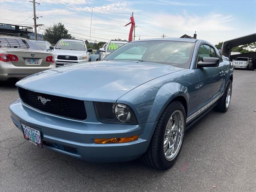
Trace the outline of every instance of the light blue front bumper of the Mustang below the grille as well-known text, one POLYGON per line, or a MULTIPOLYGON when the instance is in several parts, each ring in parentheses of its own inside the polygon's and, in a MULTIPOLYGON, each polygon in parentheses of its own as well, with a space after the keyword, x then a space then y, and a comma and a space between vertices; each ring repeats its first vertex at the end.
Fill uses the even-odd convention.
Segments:
MULTIPOLYGON (((157 122, 127 125, 68 120, 40 113, 21 103, 10 105, 11 118, 22 131, 21 122, 42 132, 44 148, 92 162, 134 160, 144 154, 157 122), (139 134, 139 139, 122 144, 95 144, 94 138, 120 138, 139 134)), ((91 118, 93 119, 93 118, 91 118)))

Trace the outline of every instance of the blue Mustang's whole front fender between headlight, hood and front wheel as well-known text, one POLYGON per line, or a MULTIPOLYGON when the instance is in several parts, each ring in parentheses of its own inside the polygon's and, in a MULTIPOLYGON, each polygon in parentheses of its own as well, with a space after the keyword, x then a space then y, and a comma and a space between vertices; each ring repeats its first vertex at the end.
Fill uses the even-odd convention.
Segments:
POLYGON ((130 106, 137 117, 138 123, 143 124, 158 121, 166 106, 178 96, 184 97, 188 104, 190 97, 185 86, 176 82, 164 84, 162 80, 159 80, 158 83, 150 81, 139 86, 116 102, 130 106), (148 98, 146 102, 145 97, 148 98))

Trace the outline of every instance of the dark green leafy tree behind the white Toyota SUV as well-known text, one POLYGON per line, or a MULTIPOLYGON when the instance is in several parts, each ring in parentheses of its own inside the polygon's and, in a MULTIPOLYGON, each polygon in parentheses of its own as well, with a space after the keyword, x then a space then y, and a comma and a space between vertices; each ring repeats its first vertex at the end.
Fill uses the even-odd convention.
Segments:
POLYGON ((64 27, 64 24, 58 23, 50 26, 44 32, 44 39, 52 44, 56 44, 58 40, 62 38, 70 38, 73 37, 68 33, 68 30, 64 27))

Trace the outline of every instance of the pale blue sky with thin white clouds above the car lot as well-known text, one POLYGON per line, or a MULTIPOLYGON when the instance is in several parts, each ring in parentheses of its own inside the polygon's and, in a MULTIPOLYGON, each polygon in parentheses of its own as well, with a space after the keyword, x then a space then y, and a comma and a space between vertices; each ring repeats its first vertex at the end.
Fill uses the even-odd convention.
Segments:
MULTIPOLYGON (((183 34, 218 44, 256 32, 256 0, 36 0, 37 24, 44 33, 62 22, 69 33, 92 42, 126 39, 130 15, 136 22, 135 40, 180 37, 183 34), (93 7, 93 8, 92 8, 93 7), (92 30, 90 25, 92 13, 92 30)), ((33 4, 29 0, 0 0, 0 22, 32 26, 33 4)))

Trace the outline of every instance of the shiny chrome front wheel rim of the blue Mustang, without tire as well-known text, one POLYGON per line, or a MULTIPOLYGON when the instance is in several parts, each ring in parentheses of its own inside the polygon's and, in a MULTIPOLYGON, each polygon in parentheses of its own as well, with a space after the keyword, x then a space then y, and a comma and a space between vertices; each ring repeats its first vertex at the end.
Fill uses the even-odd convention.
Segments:
POLYGON ((164 156, 166 160, 173 160, 181 147, 184 136, 184 115, 181 110, 176 110, 170 116, 164 133, 164 156))

